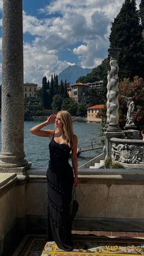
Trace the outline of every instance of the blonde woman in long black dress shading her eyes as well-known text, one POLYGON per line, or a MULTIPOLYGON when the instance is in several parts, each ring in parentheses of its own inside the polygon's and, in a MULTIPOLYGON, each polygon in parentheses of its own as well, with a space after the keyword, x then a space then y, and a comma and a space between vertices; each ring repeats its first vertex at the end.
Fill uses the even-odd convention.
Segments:
POLYGON ((60 249, 72 251, 71 222, 68 220, 68 208, 73 185, 77 186, 78 179, 77 136, 73 134, 71 115, 67 111, 52 114, 46 122, 31 128, 30 132, 51 139, 47 172, 48 239, 49 241, 56 241, 60 249), (51 123, 55 123, 56 130, 41 130, 51 123), (70 151, 73 167, 68 163, 70 151))

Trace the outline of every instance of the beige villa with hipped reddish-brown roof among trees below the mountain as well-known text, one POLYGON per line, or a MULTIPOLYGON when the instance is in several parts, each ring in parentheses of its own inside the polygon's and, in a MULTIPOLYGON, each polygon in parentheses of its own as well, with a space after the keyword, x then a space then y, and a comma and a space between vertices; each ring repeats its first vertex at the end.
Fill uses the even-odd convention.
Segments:
POLYGON ((82 82, 73 84, 73 86, 71 86, 71 97, 74 98, 77 103, 87 100, 88 88, 88 84, 84 84, 82 82))

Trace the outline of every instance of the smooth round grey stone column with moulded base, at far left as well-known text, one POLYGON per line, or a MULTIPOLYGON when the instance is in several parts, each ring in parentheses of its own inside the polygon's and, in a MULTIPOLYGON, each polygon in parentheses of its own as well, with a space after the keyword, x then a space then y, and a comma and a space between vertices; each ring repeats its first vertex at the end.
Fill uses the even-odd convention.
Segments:
POLYGON ((2 150, 0 171, 29 168, 24 159, 22 0, 3 0, 2 150), (21 167, 18 169, 18 167, 21 167), (17 169, 16 169, 17 168, 17 169))

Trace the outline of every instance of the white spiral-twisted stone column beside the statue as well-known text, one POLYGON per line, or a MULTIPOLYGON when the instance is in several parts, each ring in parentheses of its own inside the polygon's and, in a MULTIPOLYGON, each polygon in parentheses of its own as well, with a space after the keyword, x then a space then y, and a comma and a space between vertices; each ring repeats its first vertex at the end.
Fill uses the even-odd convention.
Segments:
POLYGON ((107 122, 105 126, 105 145, 104 145, 104 158, 111 157, 111 143, 112 137, 123 138, 124 133, 118 125, 118 55, 120 48, 108 49, 110 54, 110 71, 107 75, 107 122))

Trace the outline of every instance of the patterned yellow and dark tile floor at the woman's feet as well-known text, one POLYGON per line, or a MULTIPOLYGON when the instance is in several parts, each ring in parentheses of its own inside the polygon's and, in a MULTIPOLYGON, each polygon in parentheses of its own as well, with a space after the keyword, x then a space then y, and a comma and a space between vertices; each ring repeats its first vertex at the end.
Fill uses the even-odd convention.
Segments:
POLYGON ((43 235, 27 235, 13 256, 144 255, 144 233, 73 231, 73 251, 62 251, 43 235))

